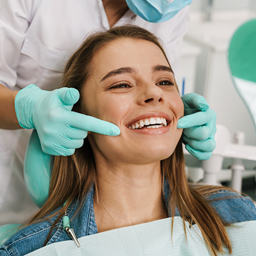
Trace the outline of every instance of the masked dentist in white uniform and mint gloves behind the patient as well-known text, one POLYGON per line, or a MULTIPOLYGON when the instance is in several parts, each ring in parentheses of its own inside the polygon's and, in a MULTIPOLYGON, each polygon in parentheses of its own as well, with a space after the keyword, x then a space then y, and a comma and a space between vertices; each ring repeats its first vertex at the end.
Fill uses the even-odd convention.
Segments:
MULTIPOLYGON (((22 174, 29 129, 37 130, 49 155, 73 154, 88 131, 119 135, 114 124, 71 111, 80 97, 76 89, 57 89, 66 61, 85 37, 114 25, 139 25, 163 39, 177 72, 191 2, 0 0, 0 225, 36 211, 22 174)), ((206 160, 215 148, 216 115, 198 94, 182 99, 185 117, 178 128, 186 149, 206 160)))

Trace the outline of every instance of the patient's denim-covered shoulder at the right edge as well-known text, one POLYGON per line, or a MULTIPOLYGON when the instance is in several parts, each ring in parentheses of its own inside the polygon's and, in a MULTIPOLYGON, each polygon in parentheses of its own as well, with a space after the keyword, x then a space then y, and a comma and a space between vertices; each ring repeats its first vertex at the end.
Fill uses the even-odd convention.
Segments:
POLYGON ((254 201, 232 190, 219 190, 207 196, 222 219, 230 224, 256 220, 254 201))

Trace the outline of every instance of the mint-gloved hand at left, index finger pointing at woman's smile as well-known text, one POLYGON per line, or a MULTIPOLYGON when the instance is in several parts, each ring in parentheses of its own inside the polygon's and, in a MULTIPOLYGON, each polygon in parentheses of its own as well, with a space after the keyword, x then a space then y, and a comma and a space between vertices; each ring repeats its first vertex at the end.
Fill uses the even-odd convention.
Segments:
POLYGON ((16 96, 16 116, 21 127, 37 130, 42 150, 49 155, 72 155, 83 145, 88 131, 120 134, 110 122, 71 111, 79 97, 75 88, 43 91, 30 85, 16 96))

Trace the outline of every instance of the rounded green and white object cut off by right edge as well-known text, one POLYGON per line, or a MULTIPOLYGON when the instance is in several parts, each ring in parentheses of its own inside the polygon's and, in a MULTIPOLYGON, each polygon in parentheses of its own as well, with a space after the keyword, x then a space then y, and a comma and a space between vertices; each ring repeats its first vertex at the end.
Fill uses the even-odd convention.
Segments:
POLYGON ((231 78, 256 129, 256 18, 235 30, 227 51, 231 78))

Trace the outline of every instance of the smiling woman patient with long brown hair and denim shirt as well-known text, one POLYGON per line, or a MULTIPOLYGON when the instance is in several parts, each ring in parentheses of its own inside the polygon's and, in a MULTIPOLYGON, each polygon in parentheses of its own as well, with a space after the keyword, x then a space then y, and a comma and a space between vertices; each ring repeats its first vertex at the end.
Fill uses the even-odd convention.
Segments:
POLYGON ((183 103, 154 35, 134 26, 91 35, 67 63, 62 86, 80 91, 74 111, 121 134, 89 132, 74 155, 55 157, 47 203, 0 255, 70 240, 67 217, 79 238, 180 216, 184 228, 199 226, 212 255, 232 252, 225 227, 256 220, 255 206, 227 188, 188 184, 176 128, 183 103))

